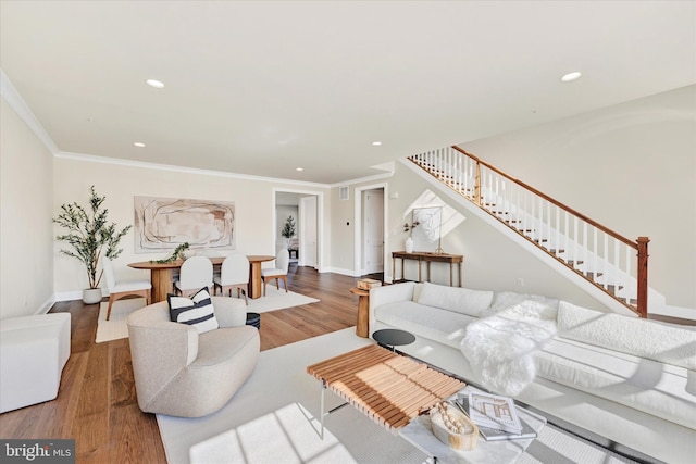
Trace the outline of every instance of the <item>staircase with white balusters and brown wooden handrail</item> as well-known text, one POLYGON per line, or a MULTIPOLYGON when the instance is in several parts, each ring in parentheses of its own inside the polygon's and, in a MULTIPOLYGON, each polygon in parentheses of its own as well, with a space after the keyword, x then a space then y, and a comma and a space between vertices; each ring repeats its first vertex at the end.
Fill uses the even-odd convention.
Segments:
POLYGON ((638 316, 648 292, 663 300, 648 289, 647 237, 622 237, 459 147, 409 160, 638 316))

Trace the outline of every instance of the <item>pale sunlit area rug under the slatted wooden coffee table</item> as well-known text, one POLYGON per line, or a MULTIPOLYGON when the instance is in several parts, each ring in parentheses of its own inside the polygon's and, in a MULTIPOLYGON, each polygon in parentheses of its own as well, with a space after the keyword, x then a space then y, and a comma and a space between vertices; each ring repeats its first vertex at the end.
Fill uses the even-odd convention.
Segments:
MULTIPOLYGON (((307 366, 371 342, 351 327, 261 352, 251 377, 221 411, 192 419, 157 415, 167 462, 433 463, 352 406, 326 416, 324 440, 319 436, 321 387, 307 366)), ((331 392, 325 400, 327 411, 340 404, 331 392)), ((518 462, 633 461, 547 426, 518 462)))

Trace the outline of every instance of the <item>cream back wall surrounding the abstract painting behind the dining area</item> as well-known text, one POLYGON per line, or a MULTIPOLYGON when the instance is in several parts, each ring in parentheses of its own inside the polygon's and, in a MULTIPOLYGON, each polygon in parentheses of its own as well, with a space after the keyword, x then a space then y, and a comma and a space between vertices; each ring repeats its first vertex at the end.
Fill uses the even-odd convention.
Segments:
MULTIPOLYGON (((99 195, 107 197, 109 220, 120 227, 133 224, 134 197, 190 198, 201 200, 234 201, 236 210, 236 251, 248 254, 275 254, 274 188, 290 184, 256 180, 223 173, 186 172, 148 167, 145 165, 113 164, 87 161, 75 156, 59 156, 54 163, 53 211, 62 203, 86 203, 89 186, 95 185, 99 195)), ((319 193, 326 188, 314 188, 319 193)), ((325 212, 327 215, 327 212, 325 212)), ((58 254, 62 243, 55 243, 54 275, 57 298, 74 299, 87 286, 82 264, 58 254)), ((170 252, 135 254, 133 230, 121 242, 123 253, 115 261, 116 278, 149 278, 147 271, 127 266, 130 262, 162 259, 170 252)), ((328 244, 326 244, 328 246, 328 244)), ((101 287, 104 287, 102 283, 101 287)))

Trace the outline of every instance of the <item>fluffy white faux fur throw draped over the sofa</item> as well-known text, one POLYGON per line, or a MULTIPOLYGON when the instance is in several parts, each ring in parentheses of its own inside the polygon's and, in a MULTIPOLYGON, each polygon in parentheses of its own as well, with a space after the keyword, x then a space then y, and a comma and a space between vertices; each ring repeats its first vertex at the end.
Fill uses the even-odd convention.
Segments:
POLYGON ((534 353, 556 335, 557 306, 525 300, 467 326, 461 351, 483 387, 514 397, 534 380, 534 353))

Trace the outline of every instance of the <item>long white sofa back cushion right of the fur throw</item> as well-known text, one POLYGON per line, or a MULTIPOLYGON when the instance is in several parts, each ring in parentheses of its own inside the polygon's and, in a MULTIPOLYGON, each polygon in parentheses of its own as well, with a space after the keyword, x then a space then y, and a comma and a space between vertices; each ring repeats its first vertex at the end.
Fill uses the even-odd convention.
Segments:
POLYGON ((696 371, 696 331, 682 326, 601 313, 561 301, 558 335, 696 371))

